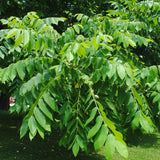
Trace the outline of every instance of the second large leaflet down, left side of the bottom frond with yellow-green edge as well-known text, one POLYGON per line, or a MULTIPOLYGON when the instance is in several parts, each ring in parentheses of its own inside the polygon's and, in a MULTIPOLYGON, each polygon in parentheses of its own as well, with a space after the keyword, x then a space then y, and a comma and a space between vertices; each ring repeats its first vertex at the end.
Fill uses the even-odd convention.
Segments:
POLYGON ((89 130, 87 138, 90 139, 96 135, 102 125, 103 119, 101 116, 96 118, 96 124, 89 130))

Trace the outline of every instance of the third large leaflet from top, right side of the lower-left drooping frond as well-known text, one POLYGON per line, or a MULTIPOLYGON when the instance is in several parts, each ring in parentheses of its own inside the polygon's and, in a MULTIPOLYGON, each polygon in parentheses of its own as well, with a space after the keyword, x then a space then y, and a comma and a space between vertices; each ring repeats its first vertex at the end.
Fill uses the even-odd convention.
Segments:
POLYGON ((34 116, 37 122, 41 125, 41 127, 45 129, 46 128, 46 118, 37 107, 34 109, 34 116))

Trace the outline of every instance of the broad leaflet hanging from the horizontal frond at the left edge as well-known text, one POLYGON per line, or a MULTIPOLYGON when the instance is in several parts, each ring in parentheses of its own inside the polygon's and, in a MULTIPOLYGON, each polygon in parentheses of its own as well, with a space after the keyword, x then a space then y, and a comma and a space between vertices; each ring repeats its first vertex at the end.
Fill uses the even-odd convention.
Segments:
POLYGON ((25 63, 24 63, 24 61, 19 61, 16 64, 16 70, 17 70, 19 78, 21 80, 24 80, 24 77, 25 77, 25 63))

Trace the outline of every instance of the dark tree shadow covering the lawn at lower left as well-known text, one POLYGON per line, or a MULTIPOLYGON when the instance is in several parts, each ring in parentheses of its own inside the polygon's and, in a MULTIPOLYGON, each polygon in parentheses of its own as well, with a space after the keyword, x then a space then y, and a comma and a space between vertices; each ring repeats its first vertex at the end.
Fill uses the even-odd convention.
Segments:
POLYGON ((2 160, 104 160, 98 154, 80 153, 75 158, 72 151, 58 146, 59 134, 19 138, 19 117, 0 113, 0 159, 2 160))

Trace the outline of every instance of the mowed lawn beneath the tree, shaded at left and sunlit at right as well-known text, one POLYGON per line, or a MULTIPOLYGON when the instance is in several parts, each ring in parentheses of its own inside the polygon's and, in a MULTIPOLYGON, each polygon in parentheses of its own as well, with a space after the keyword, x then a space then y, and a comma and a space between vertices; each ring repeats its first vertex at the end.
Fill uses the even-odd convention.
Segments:
MULTIPOLYGON (((20 120, 7 112, 0 112, 0 160, 105 160, 105 149, 98 154, 79 154, 74 158, 65 148, 57 147, 57 134, 42 140, 37 136, 19 139, 20 120)), ((134 138, 135 139, 135 138, 134 138)), ((128 147, 128 160, 160 160, 160 133, 137 138, 136 145, 128 147)), ((116 153, 112 160, 124 160, 116 153)))

